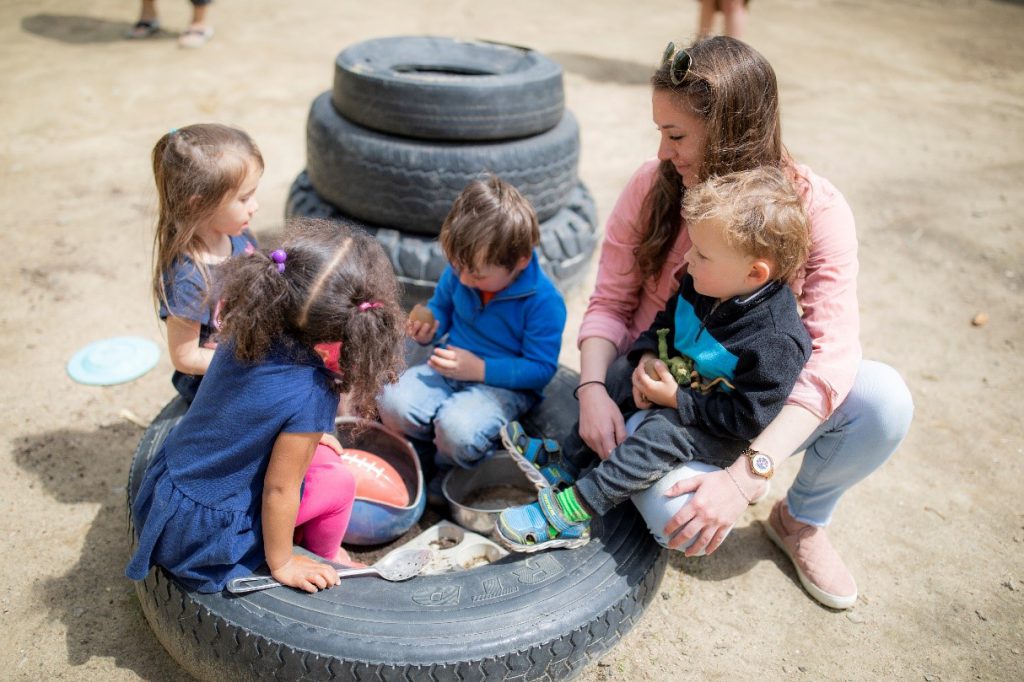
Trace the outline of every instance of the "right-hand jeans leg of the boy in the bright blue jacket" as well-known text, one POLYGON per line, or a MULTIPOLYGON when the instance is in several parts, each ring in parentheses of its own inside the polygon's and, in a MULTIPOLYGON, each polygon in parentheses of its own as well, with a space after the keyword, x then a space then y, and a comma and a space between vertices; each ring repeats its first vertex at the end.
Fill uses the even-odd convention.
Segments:
POLYGON ((518 419, 537 398, 530 391, 456 383, 460 390, 437 411, 434 444, 439 466, 468 469, 494 452, 502 425, 518 419))

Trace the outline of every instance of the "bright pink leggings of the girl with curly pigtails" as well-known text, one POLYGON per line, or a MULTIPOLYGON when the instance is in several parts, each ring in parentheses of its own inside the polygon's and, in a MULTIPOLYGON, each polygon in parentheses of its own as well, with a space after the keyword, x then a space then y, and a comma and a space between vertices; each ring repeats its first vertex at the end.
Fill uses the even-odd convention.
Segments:
POLYGON ((348 528, 355 501, 355 479, 338 454, 317 445, 306 471, 295 542, 313 554, 333 561, 348 528))

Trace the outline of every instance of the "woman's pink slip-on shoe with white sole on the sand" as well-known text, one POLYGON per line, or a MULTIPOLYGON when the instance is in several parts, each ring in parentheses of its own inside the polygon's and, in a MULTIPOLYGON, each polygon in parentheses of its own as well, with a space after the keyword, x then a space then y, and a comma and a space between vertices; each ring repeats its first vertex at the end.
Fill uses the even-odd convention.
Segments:
POLYGON ((857 584, 828 542, 824 528, 793 518, 785 508, 785 500, 775 503, 764 528, 768 538, 793 561, 801 585, 814 599, 838 609, 850 608, 856 603, 857 584))

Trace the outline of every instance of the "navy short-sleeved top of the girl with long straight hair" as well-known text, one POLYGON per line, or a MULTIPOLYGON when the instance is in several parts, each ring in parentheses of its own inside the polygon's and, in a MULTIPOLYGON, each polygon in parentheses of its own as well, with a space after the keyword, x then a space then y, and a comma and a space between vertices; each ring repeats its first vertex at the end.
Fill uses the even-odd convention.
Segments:
MULTIPOLYGON (((241 237, 231 237, 231 255, 233 258, 244 253, 252 253, 256 248, 256 239, 246 230, 241 237)), ((203 284, 196 263, 188 256, 181 256, 174 262, 171 269, 164 272, 164 292, 167 294, 167 304, 160 303, 160 318, 181 317, 199 323, 199 345, 205 344, 217 330, 217 270, 220 265, 209 266, 209 276, 213 284, 212 292, 208 292, 203 284)), ((186 401, 196 399, 202 375, 184 374, 174 371, 171 384, 186 401)))

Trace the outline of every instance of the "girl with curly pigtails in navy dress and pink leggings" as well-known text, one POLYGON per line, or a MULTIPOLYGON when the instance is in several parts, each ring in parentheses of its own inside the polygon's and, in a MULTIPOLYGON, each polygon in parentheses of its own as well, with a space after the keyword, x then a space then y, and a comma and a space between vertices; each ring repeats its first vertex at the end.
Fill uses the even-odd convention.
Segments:
POLYGON ((397 379, 404 316, 372 237, 308 219, 288 235, 281 249, 224 266, 221 343, 132 506, 133 580, 158 564, 189 589, 217 592, 265 562, 307 592, 337 584, 333 567, 292 551, 296 538, 347 562, 340 543, 354 482, 339 458, 313 453, 334 432, 342 392, 370 415, 397 379), (340 343, 340 373, 324 366, 322 343, 340 343))

